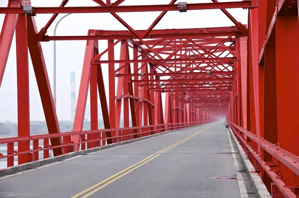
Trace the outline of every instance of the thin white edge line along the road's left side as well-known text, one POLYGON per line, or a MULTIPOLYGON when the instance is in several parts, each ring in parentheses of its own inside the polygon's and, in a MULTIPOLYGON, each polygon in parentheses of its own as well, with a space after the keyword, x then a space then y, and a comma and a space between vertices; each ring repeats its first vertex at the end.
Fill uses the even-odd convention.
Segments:
MULTIPOLYGON (((209 123, 207 123, 207 124, 209 124, 209 123)), ((202 125, 199 125, 198 127, 200 127, 200 126, 202 126, 202 125)), ((195 127, 196 127, 196 126, 195 126, 195 127)), ((195 127, 192 127, 192 128, 195 128, 195 127)), ((185 129, 182 129, 182 130, 186 130, 186 129, 188 129, 188 128, 185 128, 185 129)), ((171 132, 171 133, 175 133, 175 132, 182 131, 182 130, 176 130, 176 131, 173 131, 173 132, 171 132)), ((160 136, 162 136, 162 135, 167 135, 167 134, 171 134, 171 133, 161 134, 161 135, 158 135, 158 136, 151 137, 151 138, 149 138, 149 139, 152 139, 152 138, 155 138, 155 137, 160 137, 160 136)), ((149 140, 149 139, 144 139, 144 140, 149 140)), ((144 141, 144 140, 140 140, 140 141, 132 142, 132 143, 130 143, 130 144, 134 144, 134 143, 137 143, 137 142, 142 142, 142 141, 144 141)), ((119 145, 119 146, 115 146, 115 147, 107 148, 107 149, 104 149, 104 150, 95 151, 95 152, 92 152, 92 153, 87 153, 87 154, 85 154, 85 155, 90 155, 90 154, 93 154, 93 153, 99 153, 99 152, 101 152, 101 151, 107 151, 107 150, 109 150, 109 149, 113 149, 113 148, 117 148, 117 147, 125 146, 125 145, 128 145, 128 144, 123 144, 123 145, 119 145)), ((62 160, 62 161, 59 161, 59 162, 54 162, 54 163, 51 163, 51 164, 47 164, 47 165, 44 165, 44 166, 40 166, 40 167, 37 167, 37 168, 35 168, 35 169, 29 169, 29 170, 26 170, 26 171, 18 172, 18 173, 16 173, 16 174, 3 176, 3 177, 0 177, 0 180, 3 180, 3 179, 5 179, 5 178, 9 178, 9 177, 12 177, 12 176, 15 176, 15 175, 20 175, 20 174, 22 174, 22 173, 26 173, 26 172, 29 172, 29 171, 34 171, 34 170, 36 170, 36 169, 40 169, 40 168, 43 168, 43 167, 47 167, 47 166, 51 166, 51 165, 54 165, 54 164, 58 164, 58 163, 61 163, 61 162, 65 162, 65 161, 68 161, 68 160, 72 160, 72 159, 77 158, 77 157, 80 157, 80 156, 83 156, 83 155, 78 155, 78 156, 75 156, 75 157, 72 157, 72 158, 68 158, 68 159, 65 159, 65 160, 62 160)))

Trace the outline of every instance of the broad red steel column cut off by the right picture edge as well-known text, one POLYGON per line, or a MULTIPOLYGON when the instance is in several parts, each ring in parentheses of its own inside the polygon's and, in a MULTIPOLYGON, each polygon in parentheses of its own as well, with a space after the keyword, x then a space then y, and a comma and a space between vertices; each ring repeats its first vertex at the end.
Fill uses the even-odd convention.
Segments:
MULTIPOLYGON (((277 128, 280 147, 299 156, 299 21, 298 13, 279 13, 276 20, 277 128), (286 67, 287 66, 287 67, 286 67)), ((299 177, 280 164, 282 180, 299 182, 299 177)), ((295 192, 295 191, 294 191, 295 192)), ((296 190, 299 195, 299 189, 296 190)))

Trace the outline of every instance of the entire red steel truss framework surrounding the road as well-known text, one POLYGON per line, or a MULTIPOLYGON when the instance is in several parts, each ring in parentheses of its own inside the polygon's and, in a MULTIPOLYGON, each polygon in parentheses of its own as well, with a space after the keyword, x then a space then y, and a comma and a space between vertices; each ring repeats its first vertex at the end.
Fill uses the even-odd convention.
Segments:
POLYGON ((212 0, 178 3, 179 6, 177 0, 154 6, 122 6, 125 0, 113 4, 110 0, 93 1, 100 6, 65 7, 68 0, 64 0, 58 7, 32 7, 30 0, 8 0, 7 7, 0 7, 0 13, 6 14, 0 35, 0 85, 14 32, 17 46, 18 137, 0 139, 0 144, 7 145, 7 154, 0 154, 0 158, 7 159, 7 167, 13 166, 14 156, 18 156, 18 164, 28 163, 38 160, 39 151, 44 152, 44 158, 49 149, 58 156, 83 150, 86 144, 93 148, 219 120, 226 113, 227 122, 272 197, 299 196, 299 92, 291 86, 296 85, 299 73, 299 1, 212 0), (226 10, 238 7, 249 10, 247 26, 226 10), (221 9, 235 25, 153 30, 167 11, 199 9, 221 9), (137 11, 161 13, 146 30, 133 29, 117 14, 137 11), (92 12, 109 12, 128 30, 89 30, 82 36, 46 35, 58 13, 92 12), (53 13, 40 30, 34 21, 39 13, 53 13), (73 132, 59 130, 40 44, 51 40, 87 40, 73 132), (108 42, 103 52, 99 51, 98 40, 108 42), (117 44, 121 45, 121 54, 119 60, 114 60, 117 44), (28 49, 48 135, 30 136, 28 49), (133 49, 133 55, 129 49, 133 49), (108 60, 101 58, 105 53, 108 60), (102 64, 109 65, 108 91, 102 64), (119 69, 114 69, 115 64, 119 69), (287 82, 290 86, 284 86, 287 82), (89 86, 91 130, 82 131, 89 86), (105 125, 101 130, 98 97, 105 125), (122 106, 124 128, 120 128, 122 106), (43 147, 39 147, 38 140, 44 141, 43 147), (14 151, 16 142, 18 150, 14 151))

